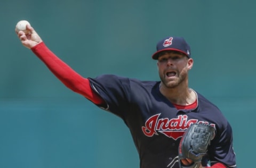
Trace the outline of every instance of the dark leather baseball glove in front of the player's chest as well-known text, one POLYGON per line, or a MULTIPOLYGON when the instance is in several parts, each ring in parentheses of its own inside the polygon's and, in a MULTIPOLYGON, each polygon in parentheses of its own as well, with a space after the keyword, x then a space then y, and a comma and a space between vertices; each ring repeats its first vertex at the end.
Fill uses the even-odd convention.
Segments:
POLYGON ((198 168, 202 157, 206 154, 211 140, 215 136, 215 128, 208 124, 191 124, 184 133, 179 144, 180 168, 198 168), (189 158, 193 161, 190 165, 183 165, 181 159, 189 158))

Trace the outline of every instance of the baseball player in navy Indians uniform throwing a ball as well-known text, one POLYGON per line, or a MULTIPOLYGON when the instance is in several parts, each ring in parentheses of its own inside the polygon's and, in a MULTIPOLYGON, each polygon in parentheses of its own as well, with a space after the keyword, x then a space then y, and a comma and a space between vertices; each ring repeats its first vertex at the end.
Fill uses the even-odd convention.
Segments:
POLYGON ((23 46, 64 85, 125 122, 139 153, 140 168, 197 167, 192 158, 179 159, 178 153, 183 134, 195 123, 215 129, 198 167, 236 167, 230 124, 217 106, 188 87, 193 58, 182 37, 166 37, 157 43, 152 58, 161 80, 140 81, 112 74, 84 78, 51 52, 33 27, 26 29, 27 35, 17 32, 23 46))

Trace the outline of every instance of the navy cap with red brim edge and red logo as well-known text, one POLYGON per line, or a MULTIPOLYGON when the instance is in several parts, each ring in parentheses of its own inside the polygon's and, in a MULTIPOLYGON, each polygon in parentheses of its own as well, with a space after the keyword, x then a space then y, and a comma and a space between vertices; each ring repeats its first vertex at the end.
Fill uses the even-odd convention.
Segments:
POLYGON ((152 58, 157 60, 159 53, 162 51, 178 51, 190 58, 190 47, 183 37, 166 37, 159 41, 152 58))

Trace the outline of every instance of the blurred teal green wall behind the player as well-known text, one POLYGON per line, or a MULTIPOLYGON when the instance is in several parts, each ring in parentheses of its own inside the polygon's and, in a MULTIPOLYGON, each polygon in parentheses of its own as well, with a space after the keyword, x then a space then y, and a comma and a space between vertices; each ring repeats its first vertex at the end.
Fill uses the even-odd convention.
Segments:
POLYGON ((28 20, 84 77, 158 80, 158 40, 191 46, 191 88, 219 106, 238 167, 254 159, 255 1, 3 0, 0 5, 0 167, 139 167, 129 130, 54 77, 14 32, 28 20), (254 131, 253 131, 254 130, 254 131))

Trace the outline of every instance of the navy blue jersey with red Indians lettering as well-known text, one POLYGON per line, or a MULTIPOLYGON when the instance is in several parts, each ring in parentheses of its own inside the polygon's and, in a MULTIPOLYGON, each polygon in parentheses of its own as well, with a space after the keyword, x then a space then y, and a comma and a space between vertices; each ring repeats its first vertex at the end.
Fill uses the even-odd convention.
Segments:
POLYGON ((130 129, 138 150, 141 168, 179 168, 178 145, 191 123, 207 123, 216 128, 206 164, 221 162, 236 167, 230 124, 219 108, 197 93, 193 110, 177 110, 159 91, 159 81, 140 81, 101 75, 89 78, 91 87, 106 101, 101 107, 121 117, 130 129))

